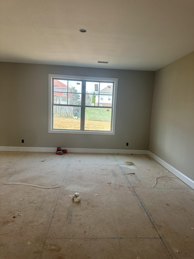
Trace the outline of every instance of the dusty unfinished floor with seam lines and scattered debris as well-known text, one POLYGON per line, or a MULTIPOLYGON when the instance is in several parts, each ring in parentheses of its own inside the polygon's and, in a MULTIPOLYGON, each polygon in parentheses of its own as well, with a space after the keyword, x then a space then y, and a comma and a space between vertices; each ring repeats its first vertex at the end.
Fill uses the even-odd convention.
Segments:
POLYGON ((193 259, 194 192, 153 188, 166 171, 148 155, 0 152, 0 258, 193 259))

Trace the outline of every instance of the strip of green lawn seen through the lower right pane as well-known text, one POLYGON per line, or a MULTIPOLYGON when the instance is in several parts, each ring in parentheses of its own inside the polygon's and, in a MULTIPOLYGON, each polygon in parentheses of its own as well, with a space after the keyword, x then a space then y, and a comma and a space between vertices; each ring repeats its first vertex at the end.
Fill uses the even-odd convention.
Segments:
POLYGON ((89 121, 111 121, 111 108, 85 108, 85 120, 89 121))

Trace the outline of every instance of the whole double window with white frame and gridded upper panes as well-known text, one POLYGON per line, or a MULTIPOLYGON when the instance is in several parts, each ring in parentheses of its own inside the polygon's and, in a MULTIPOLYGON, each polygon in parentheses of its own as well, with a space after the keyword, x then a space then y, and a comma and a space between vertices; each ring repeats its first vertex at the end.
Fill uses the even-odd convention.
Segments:
POLYGON ((114 135, 117 82, 49 74, 49 133, 114 135))

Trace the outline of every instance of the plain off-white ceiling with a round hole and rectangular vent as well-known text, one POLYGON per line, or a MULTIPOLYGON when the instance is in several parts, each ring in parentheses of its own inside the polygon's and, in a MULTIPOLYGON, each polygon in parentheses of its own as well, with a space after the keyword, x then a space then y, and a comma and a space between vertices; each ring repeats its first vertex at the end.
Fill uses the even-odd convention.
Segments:
POLYGON ((1 0, 0 61, 155 71, 193 51, 194 0, 1 0))

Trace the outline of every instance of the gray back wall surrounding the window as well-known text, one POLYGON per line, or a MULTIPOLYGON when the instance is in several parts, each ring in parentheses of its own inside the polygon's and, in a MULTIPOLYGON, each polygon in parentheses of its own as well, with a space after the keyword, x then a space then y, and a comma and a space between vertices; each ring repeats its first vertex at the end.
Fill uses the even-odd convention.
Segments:
POLYGON ((148 150, 154 72, 2 62, 0 78, 0 146, 148 150), (115 135, 48 133, 49 73, 118 78, 115 135))

